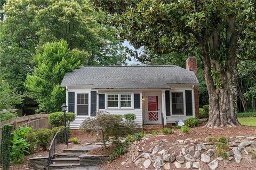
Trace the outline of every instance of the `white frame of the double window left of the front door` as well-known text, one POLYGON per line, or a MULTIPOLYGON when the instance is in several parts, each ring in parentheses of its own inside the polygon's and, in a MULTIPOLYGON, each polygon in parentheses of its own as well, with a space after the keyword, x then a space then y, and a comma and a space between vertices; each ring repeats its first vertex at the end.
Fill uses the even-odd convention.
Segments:
POLYGON ((127 93, 127 92, 113 92, 113 93, 105 93, 105 110, 111 110, 111 109, 134 109, 134 106, 133 106, 133 102, 134 102, 134 99, 133 99, 133 94, 134 93, 127 93), (108 95, 111 95, 111 94, 117 94, 118 95, 118 107, 108 107, 108 95), (121 94, 130 94, 131 95, 131 107, 121 107, 121 94))

